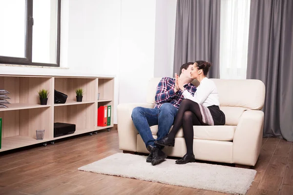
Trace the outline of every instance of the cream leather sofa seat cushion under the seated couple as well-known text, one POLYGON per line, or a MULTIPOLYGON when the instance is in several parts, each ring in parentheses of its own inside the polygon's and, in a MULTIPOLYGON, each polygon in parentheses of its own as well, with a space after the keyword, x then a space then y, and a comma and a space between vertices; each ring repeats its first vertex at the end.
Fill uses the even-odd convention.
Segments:
MULTIPOLYGON (((171 127, 172 129, 172 127, 171 127)), ((194 139, 208 139, 218 141, 231 141, 233 140, 236 126, 223 125, 223 126, 193 126, 194 139)), ((157 135, 158 125, 150 127, 153 136, 157 135)), ((176 137, 183 137, 182 128, 179 129, 176 137)))

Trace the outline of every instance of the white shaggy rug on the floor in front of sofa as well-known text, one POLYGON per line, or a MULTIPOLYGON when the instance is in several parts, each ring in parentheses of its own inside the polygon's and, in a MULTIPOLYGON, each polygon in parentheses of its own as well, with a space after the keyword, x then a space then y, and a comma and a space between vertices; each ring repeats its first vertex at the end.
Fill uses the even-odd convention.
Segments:
POLYGON ((206 163, 175 164, 166 159, 152 166, 146 156, 117 153, 78 170, 123 176, 176 186, 245 195, 256 174, 255 170, 206 163))

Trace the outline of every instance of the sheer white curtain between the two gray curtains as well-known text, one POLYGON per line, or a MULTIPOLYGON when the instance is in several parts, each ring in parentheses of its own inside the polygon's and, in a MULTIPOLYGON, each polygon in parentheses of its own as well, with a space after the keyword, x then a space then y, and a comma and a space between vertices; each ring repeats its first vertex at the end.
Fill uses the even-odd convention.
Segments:
POLYGON ((246 79, 251 0, 221 0, 220 78, 246 79))

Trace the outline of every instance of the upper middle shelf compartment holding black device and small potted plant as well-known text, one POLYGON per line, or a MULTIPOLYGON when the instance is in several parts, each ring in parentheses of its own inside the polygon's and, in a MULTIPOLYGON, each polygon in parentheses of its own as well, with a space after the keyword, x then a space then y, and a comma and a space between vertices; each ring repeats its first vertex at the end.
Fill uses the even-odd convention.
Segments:
POLYGON ((77 88, 84 89, 83 101, 95 101, 96 97, 96 81, 97 78, 70 78, 62 77, 55 78, 54 89, 66 94, 67 101, 72 100, 76 102, 75 90, 77 88))

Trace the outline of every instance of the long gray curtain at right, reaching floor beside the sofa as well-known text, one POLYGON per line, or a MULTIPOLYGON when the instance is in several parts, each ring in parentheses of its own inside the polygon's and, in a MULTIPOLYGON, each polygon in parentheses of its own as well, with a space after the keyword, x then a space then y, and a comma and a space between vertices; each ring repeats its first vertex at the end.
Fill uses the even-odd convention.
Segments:
POLYGON ((247 78, 266 85, 264 137, 293 141, 293 0, 251 0, 247 78))

